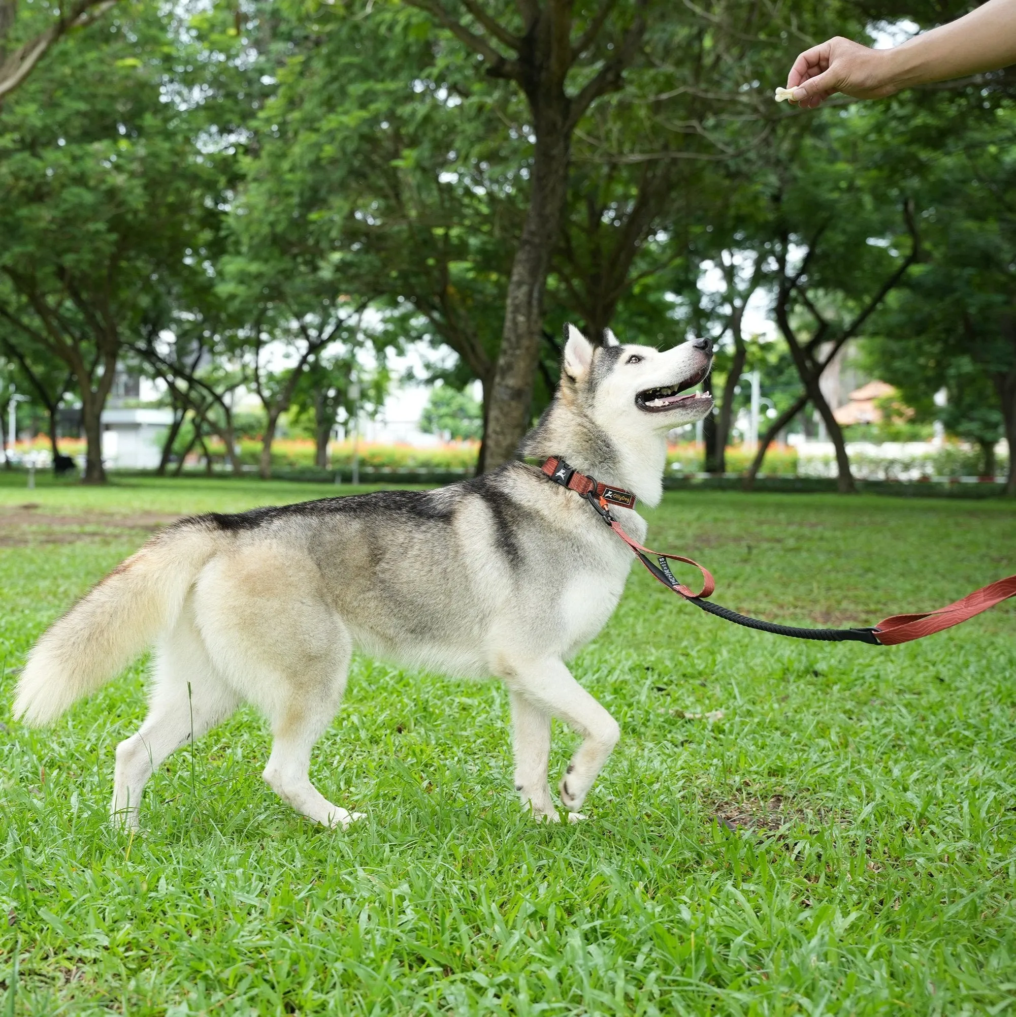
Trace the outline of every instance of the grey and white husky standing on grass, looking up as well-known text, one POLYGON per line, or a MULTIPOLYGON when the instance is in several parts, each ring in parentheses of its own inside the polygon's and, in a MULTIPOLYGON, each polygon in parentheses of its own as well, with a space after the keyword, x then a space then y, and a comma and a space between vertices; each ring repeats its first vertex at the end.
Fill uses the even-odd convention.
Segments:
MULTIPOLYGON (((523 452, 562 457, 656 504, 666 432, 712 405, 689 391, 709 371, 711 344, 660 353, 609 332, 601 346, 571 325, 566 336, 560 386, 523 452)), ((642 518, 614 511, 642 541, 642 518)), ((362 814, 328 801, 308 768, 359 650, 501 678, 515 788, 537 820, 558 819, 551 718, 569 724, 583 740, 559 789, 569 819, 581 818, 620 728, 565 660, 610 618, 631 561, 588 501, 522 462, 438 490, 196 516, 154 536, 54 622, 21 672, 14 714, 55 720, 154 643, 148 715, 117 746, 115 822, 136 827, 154 769, 246 702, 271 725, 265 781, 304 816, 344 827, 362 814)))

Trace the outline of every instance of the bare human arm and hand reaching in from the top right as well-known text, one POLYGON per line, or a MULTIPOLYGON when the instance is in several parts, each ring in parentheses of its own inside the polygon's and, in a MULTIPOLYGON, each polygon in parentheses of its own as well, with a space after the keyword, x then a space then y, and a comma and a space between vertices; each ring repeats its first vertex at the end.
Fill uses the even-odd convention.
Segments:
POLYGON ((854 99, 883 99, 914 84, 1012 63, 1016 0, 988 0, 969 14, 889 50, 873 50, 838 36, 829 39, 798 57, 786 86, 793 89, 793 102, 815 109, 837 92, 854 99))

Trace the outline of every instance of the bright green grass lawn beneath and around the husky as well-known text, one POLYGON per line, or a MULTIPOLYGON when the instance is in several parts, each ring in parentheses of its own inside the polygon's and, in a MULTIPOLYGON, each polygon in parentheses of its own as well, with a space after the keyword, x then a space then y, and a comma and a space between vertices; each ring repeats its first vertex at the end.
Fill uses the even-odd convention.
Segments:
MULTIPOLYGON (((106 810, 141 664, 42 731, 10 720, 12 670, 160 521, 333 490, 14 483, 0 475, 2 1013, 1016 1003, 1016 605, 904 647, 809 644, 636 566, 574 662, 623 730, 586 823, 520 815, 498 684, 361 658, 311 776, 365 822, 324 830, 279 801, 247 711, 167 762, 131 839, 106 810)), ((1016 572, 999 501, 682 493, 650 524, 652 546, 713 571, 717 602, 780 621, 874 623, 1016 572)), ((553 773, 574 742, 556 729, 553 773)))

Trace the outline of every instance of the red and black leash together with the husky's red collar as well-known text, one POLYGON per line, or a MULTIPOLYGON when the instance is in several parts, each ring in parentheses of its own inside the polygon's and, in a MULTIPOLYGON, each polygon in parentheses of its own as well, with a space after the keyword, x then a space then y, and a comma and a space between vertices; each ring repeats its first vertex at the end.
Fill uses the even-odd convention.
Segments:
POLYGON ((548 459, 542 469, 544 474, 556 484, 567 487, 585 498, 596 510, 604 522, 632 549, 653 579, 680 594, 689 603, 701 607, 703 611, 708 611, 726 621, 733 621, 735 624, 745 625, 748 629, 774 633, 777 636, 789 636, 791 639, 896 646, 898 643, 909 643, 911 640, 940 633, 944 629, 951 629, 961 621, 972 618, 975 614, 980 614, 981 611, 987 611, 1003 600, 1016 596, 1016 576, 1010 576, 1007 579, 990 583, 979 590, 974 590, 973 593, 967 594, 961 600, 946 607, 940 607, 937 611, 926 611, 923 614, 893 614, 871 629, 799 629, 793 625, 778 625, 771 621, 762 621, 759 618, 751 618, 747 614, 739 614, 728 607, 721 607, 719 604, 707 600, 706 598, 716 589, 716 583, 709 571, 703 569, 697 561, 680 554, 666 554, 662 551, 651 550, 629 537, 611 513, 611 505, 634 508, 635 495, 631 491, 626 491, 622 487, 613 487, 610 484, 597 483, 594 478, 587 477, 572 469, 557 456, 548 459), (652 561, 649 555, 655 556, 656 561, 652 561), (683 583, 679 583, 671 572, 669 560, 683 561, 698 569, 702 574, 702 590, 699 593, 693 593, 683 583))

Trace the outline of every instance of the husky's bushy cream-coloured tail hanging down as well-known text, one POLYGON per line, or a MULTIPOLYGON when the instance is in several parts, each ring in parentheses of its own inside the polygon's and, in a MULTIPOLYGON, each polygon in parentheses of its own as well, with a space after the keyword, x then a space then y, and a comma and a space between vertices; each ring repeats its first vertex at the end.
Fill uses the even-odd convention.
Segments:
POLYGON ((202 521, 153 537, 55 621, 33 647, 14 696, 31 726, 56 720, 176 622, 187 592, 218 549, 202 521))

